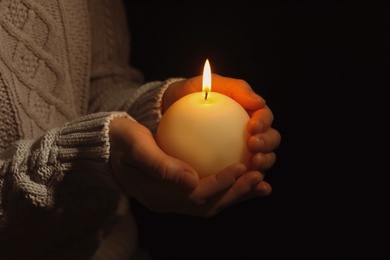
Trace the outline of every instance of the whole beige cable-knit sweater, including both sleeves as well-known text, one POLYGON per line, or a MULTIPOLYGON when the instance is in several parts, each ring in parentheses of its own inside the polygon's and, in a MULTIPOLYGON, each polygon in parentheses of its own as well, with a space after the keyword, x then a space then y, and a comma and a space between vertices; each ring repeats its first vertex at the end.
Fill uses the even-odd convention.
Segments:
POLYGON ((128 64, 129 40, 120 0, 0 1, 0 259, 14 251, 44 259, 37 247, 62 259, 58 252, 96 239, 46 241, 61 228, 48 224, 53 215, 72 224, 69 209, 122 216, 119 229, 133 232, 119 235, 128 241, 122 256, 132 253, 135 226, 110 178, 108 125, 132 117, 153 132, 169 83, 143 83, 128 64))

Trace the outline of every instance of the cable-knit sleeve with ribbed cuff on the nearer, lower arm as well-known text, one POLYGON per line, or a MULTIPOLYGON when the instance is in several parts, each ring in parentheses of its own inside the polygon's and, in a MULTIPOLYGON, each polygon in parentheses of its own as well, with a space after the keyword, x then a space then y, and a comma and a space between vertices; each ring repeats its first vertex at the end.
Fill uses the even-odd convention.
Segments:
POLYGON ((4 151, 0 157, 0 227, 70 203, 75 194, 58 189, 70 172, 95 169, 96 175, 106 175, 110 182, 108 126, 115 117, 129 116, 124 112, 91 114, 38 139, 20 140, 4 151))

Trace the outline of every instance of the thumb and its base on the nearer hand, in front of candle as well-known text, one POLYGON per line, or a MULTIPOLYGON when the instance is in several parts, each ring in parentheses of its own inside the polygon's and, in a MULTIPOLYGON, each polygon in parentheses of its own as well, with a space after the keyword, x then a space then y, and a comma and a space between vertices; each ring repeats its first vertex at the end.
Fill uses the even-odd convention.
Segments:
POLYGON ((125 166, 133 172, 140 171, 138 178, 176 183, 185 188, 198 185, 196 171, 185 162, 164 153, 149 129, 135 121, 125 118, 113 120, 110 123, 110 144, 111 163, 122 175, 128 170, 122 168, 125 166))

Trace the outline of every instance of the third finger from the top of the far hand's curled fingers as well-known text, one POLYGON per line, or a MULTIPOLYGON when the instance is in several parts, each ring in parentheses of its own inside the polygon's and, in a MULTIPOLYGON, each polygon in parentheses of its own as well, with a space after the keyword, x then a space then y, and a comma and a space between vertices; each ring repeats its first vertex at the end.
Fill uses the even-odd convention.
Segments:
POLYGON ((247 141, 248 150, 251 153, 269 153, 279 147, 281 136, 274 128, 268 129, 266 133, 250 136, 247 141))

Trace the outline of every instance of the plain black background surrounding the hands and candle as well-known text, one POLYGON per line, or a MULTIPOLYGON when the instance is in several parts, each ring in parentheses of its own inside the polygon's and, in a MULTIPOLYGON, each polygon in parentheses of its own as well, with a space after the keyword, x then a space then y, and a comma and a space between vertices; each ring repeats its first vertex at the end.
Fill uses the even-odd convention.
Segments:
POLYGON ((239 3, 128 3, 147 80, 200 75, 208 58, 267 100, 282 135, 270 197, 211 219, 134 204, 141 246, 156 260, 390 259, 389 5, 239 3))

